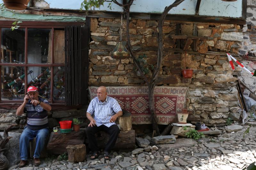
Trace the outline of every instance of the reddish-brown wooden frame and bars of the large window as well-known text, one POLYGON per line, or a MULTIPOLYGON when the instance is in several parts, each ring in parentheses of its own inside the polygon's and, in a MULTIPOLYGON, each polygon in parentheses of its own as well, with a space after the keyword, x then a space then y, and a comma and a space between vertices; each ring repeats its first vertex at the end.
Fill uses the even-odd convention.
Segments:
MULTIPOLYGON (((13 21, 0 21, 0 43, 1 39, 2 39, 2 28, 11 28, 13 21)), ((44 22, 44 21, 23 21, 22 23, 19 24, 20 28, 25 28, 25 63, 24 64, 18 64, 18 63, 1 63, 0 61, 0 75, 2 74, 2 66, 23 66, 25 67, 25 73, 28 72, 28 67, 33 67, 33 66, 47 66, 47 67, 51 67, 51 77, 53 78, 53 68, 54 67, 58 67, 58 66, 62 66, 65 67, 65 63, 54 63, 54 29, 55 28, 65 28, 65 26, 74 26, 74 25, 83 25, 84 22, 44 22), (51 63, 37 63, 37 64, 32 64, 32 63, 28 63, 28 29, 29 28, 43 28, 43 29, 52 29, 52 51, 51 51, 51 63)), ((0 58, 2 57, 2 53, 0 53, 0 58)), ((27 88, 28 88, 28 75, 25 74, 25 94, 27 92, 27 88)), ((1 82, 1 76, 0 76, 0 82, 1 82)), ((53 81, 51 79, 51 95, 50 95, 50 100, 49 103, 52 106, 55 106, 53 109, 58 109, 58 108, 62 108, 62 109, 68 109, 68 108, 79 108, 81 106, 68 106, 65 107, 65 101, 58 101, 58 100, 53 100, 53 81)), ((0 96, 1 96, 1 91, 0 90, 0 96)), ((17 107, 20 106, 20 103, 22 103, 23 100, 2 100, 0 97, 0 107, 4 107, 4 108, 12 108, 15 109, 17 107)))

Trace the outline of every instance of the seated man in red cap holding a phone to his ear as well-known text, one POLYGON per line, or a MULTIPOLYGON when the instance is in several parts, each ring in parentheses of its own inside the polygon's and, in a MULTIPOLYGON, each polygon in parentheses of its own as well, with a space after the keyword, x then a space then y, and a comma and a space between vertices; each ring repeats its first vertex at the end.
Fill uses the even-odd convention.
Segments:
POLYGON ((20 136, 19 167, 27 165, 29 141, 34 137, 36 137, 34 165, 40 165, 40 154, 44 148, 45 139, 49 134, 47 111, 52 109, 47 100, 38 96, 38 90, 35 86, 29 86, 27 93, 16 112, 16 115, 22 115, 24 112, 28 116, 27 125, 20 136))

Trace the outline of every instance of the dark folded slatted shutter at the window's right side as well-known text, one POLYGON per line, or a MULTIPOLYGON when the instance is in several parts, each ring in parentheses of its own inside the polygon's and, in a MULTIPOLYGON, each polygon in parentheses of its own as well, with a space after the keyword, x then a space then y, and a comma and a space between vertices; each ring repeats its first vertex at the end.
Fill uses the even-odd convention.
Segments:
POLYGON ((90 18, 85 26, 65 27, 65 104, 84 105, 88 88, 90 18))

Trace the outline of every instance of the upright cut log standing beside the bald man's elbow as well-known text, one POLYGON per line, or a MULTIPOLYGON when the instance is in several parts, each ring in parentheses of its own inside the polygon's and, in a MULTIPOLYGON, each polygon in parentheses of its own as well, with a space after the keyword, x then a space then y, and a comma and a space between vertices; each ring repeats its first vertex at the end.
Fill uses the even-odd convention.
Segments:
POLYGON ((132 130, 132 115, 130 112, 123 110, 123 115, 118 118, 118 121, 121 131, 132 130))

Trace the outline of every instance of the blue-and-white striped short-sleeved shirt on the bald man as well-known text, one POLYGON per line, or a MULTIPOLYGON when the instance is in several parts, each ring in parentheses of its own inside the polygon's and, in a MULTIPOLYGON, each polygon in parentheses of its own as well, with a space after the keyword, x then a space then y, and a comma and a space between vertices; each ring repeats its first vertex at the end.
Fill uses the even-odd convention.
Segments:
POLYGON ((98 97, 95 97, 87 109, 87 113, 94 114, 94 120, 97 126, 104 124, 107 127, 116 124, 115 122, 109 121, 119 111, 122 111, 122 109, 116 99, 108 96, 104 102, 101 102, 98 97))

